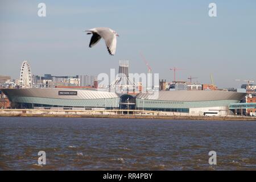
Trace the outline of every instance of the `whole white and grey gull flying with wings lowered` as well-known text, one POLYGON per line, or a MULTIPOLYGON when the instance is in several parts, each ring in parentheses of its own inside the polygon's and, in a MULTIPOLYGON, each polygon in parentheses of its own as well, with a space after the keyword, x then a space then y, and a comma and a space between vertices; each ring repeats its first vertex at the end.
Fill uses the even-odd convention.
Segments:
POLYGON ((119 36, 117 32, 107 27, 92 28, 90 30, 85 30, 85 32, 89 32, 87 34, 93 34, 92 38, 90 39, 89 47, 93 47, 100 41, 101 38, 103 38, 110 55, 113 56, 115 54, 115 49, 117 47, 117 36, 119 36))

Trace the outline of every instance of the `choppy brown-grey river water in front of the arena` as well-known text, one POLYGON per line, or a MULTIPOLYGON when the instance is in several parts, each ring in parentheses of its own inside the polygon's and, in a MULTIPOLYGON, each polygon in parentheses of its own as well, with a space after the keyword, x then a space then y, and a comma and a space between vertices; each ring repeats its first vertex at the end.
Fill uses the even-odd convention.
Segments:
POLYGON ((0 117, 0 169, 256 170, 256 122, 0 117))

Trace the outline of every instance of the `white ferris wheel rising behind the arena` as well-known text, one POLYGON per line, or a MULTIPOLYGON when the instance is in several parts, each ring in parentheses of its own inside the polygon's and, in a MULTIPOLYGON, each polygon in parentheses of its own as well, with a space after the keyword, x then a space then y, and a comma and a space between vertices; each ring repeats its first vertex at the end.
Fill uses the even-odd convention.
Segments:
POLYGON ((19 77, 20 88, 31 88, 32 87, 32 76, 30 64, 28 61, 23 61, 22 67, 20 68, 19 77))

